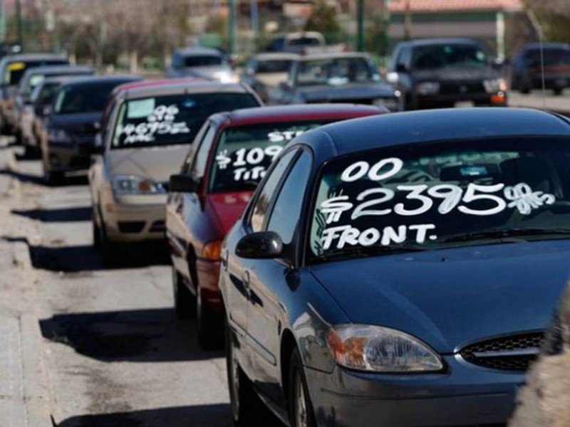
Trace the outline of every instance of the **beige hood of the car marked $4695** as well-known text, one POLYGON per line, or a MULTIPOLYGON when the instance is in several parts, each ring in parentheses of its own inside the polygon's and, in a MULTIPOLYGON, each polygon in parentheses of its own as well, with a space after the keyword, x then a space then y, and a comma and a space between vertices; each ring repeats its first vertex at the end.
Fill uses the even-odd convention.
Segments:
POLYGON ((105 160, 113 175, 136 175, 154 182, 165 183, 177 173, 189 146, 112 149, 105 153, 105 160))

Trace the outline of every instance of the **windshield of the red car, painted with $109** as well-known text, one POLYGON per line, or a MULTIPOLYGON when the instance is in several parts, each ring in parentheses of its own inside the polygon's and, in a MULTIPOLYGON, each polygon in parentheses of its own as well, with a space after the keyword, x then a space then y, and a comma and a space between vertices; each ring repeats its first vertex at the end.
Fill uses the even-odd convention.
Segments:
POLYGON ((209 173, 209 192, 251 191, 284 145, 330 120, 229 127, 220 135, 209 173))

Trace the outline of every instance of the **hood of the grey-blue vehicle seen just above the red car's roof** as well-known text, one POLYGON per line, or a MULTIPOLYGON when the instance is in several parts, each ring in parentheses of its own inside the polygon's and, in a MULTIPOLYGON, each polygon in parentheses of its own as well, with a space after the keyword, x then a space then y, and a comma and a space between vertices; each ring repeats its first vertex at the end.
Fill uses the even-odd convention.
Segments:
POLYGON ((297 90, 306 102, 335 102, 346 100, 373 100, 378 97, 395 97, 390 85, 371 83, 369 85, 311 86, 297 90))

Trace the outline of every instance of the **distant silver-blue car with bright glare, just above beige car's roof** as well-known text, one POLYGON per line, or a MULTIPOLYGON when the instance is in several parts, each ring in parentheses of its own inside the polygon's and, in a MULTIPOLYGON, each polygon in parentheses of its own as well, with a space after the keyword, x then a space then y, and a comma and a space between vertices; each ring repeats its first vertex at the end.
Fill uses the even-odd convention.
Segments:
POLYGON ((167 78, 194 77, 221 83, 239 83, 239 75, 224 53, 212 48, 180 48, 172 53, 167 78))

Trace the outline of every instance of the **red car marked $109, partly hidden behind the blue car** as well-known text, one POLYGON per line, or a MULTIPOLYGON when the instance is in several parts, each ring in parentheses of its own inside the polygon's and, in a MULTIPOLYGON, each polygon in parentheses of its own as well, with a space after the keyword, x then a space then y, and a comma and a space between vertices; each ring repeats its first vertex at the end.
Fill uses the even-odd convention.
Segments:
POLYGON ((218 347, 223 339, 222 240, 274 157, 307 130, 387 111, 370 105, 288 105, 223 112, 204 123, 180 174, 170 176, 166 207, 176 312, 196 315, 202 347, 218 347))

